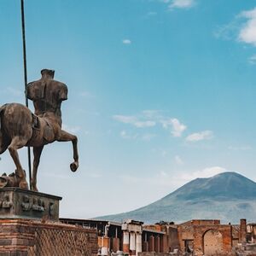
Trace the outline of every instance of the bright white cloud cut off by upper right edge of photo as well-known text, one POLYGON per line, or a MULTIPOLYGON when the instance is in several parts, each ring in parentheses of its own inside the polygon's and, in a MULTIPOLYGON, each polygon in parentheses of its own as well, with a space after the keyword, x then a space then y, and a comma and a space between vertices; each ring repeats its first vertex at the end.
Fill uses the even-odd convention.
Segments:
POLYGON ((256 46, 256 8, 241 12, 240 16, 247 21, 241 27, 238 40, 256 46))

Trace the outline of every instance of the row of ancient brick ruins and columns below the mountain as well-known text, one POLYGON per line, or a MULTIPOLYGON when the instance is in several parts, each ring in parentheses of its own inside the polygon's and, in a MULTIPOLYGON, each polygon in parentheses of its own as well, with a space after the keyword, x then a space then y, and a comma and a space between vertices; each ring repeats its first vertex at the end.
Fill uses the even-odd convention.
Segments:
POLYGON ((193 219, 182 224, 161 221, 61 218, 65 224, 97 230, 98 255, 256 255, 256 224, 220 224, 218 219, 193 219))

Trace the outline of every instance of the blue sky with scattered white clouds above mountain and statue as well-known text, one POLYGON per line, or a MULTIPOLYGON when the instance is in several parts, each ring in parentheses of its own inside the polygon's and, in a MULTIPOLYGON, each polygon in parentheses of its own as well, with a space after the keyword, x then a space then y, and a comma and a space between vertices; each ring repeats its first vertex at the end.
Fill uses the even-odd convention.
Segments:
MULTIPOLYGON (((256 180, 256 1, 25 0, 28 80, 55 69, 79 137, 44 148, 61 216, 142 207, 195 177, 256 180)), ((24 102, 20 1, 0 2, 0 103, 24 102)), ((30 105, 32 109, 32 104, 30 105)), ((13 172, 9 153, 0 170, 13 172)), ((26 167, 26 150, 20 150, 26 167)))

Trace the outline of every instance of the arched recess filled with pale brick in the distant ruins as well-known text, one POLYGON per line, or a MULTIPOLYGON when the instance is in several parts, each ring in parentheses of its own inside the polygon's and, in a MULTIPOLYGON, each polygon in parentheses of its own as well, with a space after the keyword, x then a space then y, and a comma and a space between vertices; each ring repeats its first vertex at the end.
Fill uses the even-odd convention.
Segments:
POLYGON ((203 236, 204 255, 223 253, 223 237, 218 230, 207 230, 203 236))

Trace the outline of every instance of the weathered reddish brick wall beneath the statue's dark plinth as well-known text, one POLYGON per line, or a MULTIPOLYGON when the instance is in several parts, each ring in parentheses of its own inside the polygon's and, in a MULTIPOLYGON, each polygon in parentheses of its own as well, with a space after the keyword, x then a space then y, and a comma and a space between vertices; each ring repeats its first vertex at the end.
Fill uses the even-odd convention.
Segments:
POLYGON ((96 230, 26 219, 0 220, 0 255, 91 255, 97 253, 96 230), (75 254, 77 253, 77 254, 75 254))

